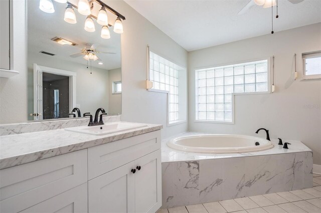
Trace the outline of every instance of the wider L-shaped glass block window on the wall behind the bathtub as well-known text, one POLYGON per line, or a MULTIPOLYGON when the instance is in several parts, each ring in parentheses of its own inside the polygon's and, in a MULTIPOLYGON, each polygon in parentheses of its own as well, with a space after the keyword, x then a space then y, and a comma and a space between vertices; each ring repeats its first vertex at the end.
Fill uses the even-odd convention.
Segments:
POLYGON ((268 91, 267 60, 196 70, 196 119, 233 120, 232 93, 268 91))

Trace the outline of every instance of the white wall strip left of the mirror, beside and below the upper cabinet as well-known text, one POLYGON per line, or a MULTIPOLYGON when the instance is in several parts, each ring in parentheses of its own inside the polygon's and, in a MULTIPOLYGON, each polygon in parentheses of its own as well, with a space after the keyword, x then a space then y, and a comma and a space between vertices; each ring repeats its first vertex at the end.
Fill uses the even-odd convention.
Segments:
POLYGON ((0 77, 0 123, 27 120, 27 21, 25 0, 13 1, 13 69, 11 78, 0 77))

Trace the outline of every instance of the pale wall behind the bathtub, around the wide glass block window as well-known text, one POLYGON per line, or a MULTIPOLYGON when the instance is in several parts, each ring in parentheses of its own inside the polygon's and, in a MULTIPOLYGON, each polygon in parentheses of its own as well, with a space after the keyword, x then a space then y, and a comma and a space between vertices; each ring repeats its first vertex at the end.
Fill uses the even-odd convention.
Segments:
MULTIPOLYGON (((256 129, 265 127, 272 138, 301 140, 313 150, 313 163, 321 164, 321 80, 300 80, 301 54, 320 50, 320 37, 321 24, 316 23, 189 52, 189 130, 255 135, 256 129), (299 78, 294 81, 295 52, 299 78), (235 124, 194 121, 195 68, 272 55, 275 55, 274 93, 235 95, 235 124)), ((264 132, 259 135, 263 137, 264 132)))

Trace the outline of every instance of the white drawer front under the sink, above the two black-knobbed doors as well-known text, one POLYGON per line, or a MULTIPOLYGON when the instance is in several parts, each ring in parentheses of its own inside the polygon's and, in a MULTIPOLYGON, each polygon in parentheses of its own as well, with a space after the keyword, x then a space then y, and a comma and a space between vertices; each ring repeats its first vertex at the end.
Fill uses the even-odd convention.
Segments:
POLYGON ((88 179, 161 148, 161 130, 88 148, 88 179))

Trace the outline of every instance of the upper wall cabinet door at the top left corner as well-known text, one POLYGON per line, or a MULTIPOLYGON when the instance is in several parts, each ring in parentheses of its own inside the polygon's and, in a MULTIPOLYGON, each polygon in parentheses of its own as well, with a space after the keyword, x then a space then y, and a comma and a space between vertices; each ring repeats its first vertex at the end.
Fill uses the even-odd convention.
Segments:
POLYGON ((0 69, 10 69, 10 6, 0 0, 0 69))

